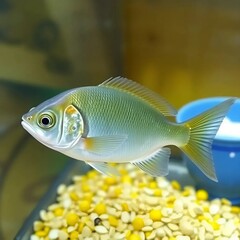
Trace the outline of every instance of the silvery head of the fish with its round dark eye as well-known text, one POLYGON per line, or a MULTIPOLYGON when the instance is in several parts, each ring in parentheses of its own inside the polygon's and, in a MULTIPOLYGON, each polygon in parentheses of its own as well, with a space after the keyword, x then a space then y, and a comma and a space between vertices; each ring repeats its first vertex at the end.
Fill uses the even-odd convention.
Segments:
POLYGON ((84 122, 81 113, 71 102, 53 100, 43 102, 24 114, 22 126, 42 144, 63 151, 79 141, 84 122))

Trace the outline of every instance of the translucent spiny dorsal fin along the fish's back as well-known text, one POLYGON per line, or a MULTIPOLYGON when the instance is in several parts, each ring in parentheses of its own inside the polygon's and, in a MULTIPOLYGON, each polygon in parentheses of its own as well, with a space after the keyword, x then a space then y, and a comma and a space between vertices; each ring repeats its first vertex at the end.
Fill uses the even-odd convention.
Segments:
POLYGON ((160 97, 155 92, 143 87, 139 83, 133 82, 127 78, 116 77, 109 78, 99 86, 115 88, 129 94, 132 94, 158 109, 165 116, 175 116, 177 111, 164 98, 160 97))

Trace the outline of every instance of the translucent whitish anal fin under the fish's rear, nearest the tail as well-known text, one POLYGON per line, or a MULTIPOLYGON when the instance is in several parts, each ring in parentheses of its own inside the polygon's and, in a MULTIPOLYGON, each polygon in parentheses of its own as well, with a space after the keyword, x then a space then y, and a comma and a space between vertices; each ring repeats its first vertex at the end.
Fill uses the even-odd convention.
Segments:
POLYGON ((133 164, 151 176, 166 176, 168 174, 168 162, 171 154, 169 148, 161 148, 149 158, 134 162, 133 164))

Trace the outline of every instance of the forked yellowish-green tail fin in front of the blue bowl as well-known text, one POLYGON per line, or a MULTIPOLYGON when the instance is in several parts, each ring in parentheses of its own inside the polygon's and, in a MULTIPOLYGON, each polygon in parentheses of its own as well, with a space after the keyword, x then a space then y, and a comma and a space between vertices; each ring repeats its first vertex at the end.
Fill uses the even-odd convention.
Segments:
POLYGON ((200 170, 213 181, 218 181, 212 160, 211 146, 224 117, 235 99, 230 98, 184 124, 190 130, 190 138, 181 150, 200 170))

